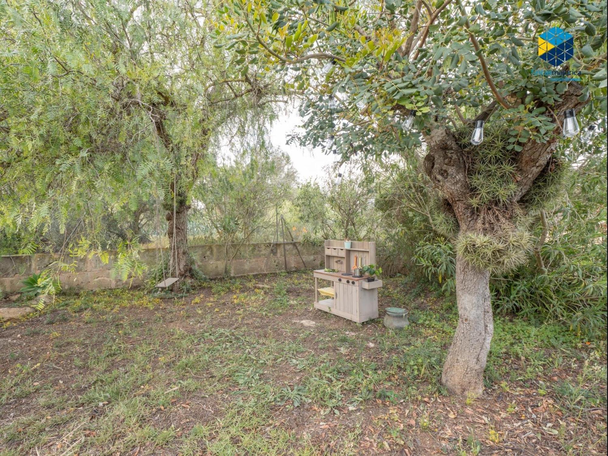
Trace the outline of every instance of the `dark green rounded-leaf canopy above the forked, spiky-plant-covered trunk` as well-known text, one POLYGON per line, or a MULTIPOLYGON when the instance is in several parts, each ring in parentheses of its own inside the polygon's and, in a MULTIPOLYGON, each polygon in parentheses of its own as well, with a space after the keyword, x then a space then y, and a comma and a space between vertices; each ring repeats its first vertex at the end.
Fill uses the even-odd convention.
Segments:
POLYGON ((567 90, 563 81, 533 74, 545 69, 536 41, 551 24, 575 35, 568 69, 581 71, 581 97, 593 95, 586 116, 606 111, 606 10, 599 3, 237 0, 221 12, 216 46, 243 69, 286 70, 285 91, 304 92, 302 114, 311 115, 302 142, 319 144, 338 131, 345 157, 419 145, 420 136, 404 135, 395 122, 409 109, 421 128, 459 119, 463 109, 472 120, 492 101, 502 108, 497 116, 517 119, 534 139, 545 139, 553 130, 548 106, 567 90), (316 112, 327 113, 330 96, 340 100, 340 125, 316 112))

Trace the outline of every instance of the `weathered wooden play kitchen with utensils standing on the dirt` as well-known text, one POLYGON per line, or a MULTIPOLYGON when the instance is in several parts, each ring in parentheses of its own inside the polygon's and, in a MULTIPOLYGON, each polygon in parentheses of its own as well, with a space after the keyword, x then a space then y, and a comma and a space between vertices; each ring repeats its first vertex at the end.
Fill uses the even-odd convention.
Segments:
POLYGON ((361 272, 362 266, 376 262, 376 243, 351 241, 349 249, 344 241, 325 241, 325 269, 314 276, 314 306, 353 322, 366 322, 378 318, 378 288, 382 280, 368 282, 368 275, 361 272), (359 277, 358 277, 359 276, 359 277), (319 288, 319 279, 328 280, 331 286, 319 288), (319 300, 319 295, 325 299, 319 300))

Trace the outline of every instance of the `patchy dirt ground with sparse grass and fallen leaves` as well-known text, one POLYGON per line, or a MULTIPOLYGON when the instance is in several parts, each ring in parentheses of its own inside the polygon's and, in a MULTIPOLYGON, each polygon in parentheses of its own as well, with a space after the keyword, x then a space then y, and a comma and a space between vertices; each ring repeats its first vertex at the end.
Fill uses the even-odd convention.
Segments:
POLYGON ((605 339, 498 316, 484 395, 454 398, 452 300, 385 280, 394 332, 313 295, 294 272, 58 297, 0 330, 0 454, 606 454, 605 339))

